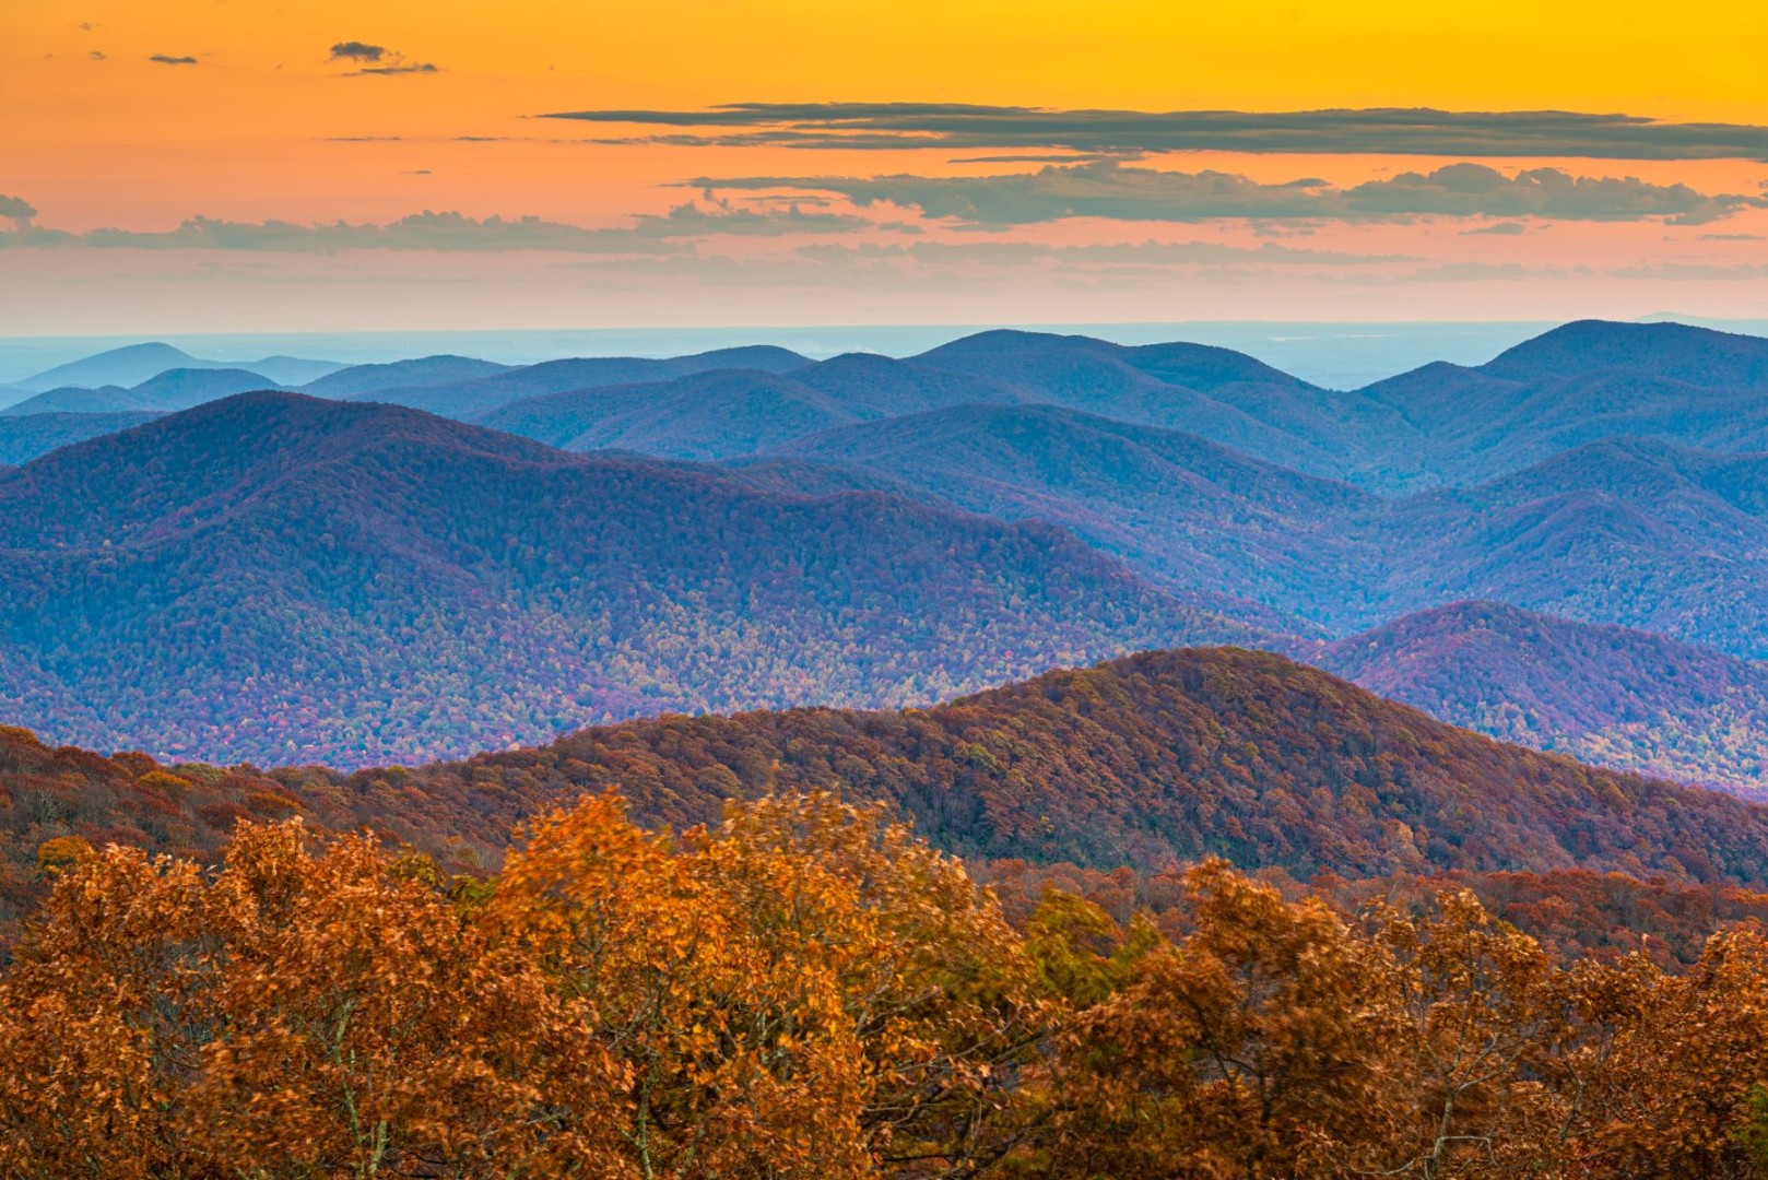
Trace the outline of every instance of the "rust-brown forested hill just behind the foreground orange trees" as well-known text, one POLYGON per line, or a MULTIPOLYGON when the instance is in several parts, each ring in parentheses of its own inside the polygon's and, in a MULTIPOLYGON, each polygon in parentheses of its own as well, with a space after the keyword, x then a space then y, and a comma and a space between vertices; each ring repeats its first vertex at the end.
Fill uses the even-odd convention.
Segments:
POLYGON ((979 858, 1768 879, 1768 808, 1501 745, 1245 649, 1151 651, 902 713, 635 720, 348 785, 407 793, 408 833, 582 791, 679 826, 728 796, 827 787, 891 800, 979 858))

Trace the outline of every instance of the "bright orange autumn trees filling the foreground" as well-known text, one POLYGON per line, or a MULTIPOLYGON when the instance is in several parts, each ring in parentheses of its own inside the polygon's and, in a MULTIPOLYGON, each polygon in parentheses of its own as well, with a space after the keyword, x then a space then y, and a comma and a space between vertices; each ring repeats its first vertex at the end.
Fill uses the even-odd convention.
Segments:
POLYGON ((1156 920, 992 892, 879 808, 615 796, 500 874, 240 824, 67 842, 0 975, 0 1175, 1756 1176, 1768 939, 1558 962, 1466 890, 1204 862, 1156 920))

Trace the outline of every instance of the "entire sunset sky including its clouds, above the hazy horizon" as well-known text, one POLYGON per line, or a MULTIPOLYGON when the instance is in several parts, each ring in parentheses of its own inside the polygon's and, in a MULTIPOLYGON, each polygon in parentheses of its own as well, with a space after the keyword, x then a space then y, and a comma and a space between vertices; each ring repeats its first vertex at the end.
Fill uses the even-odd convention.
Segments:
POLYGON ((39 0, 0 336, 1768 315, 1768 5, 39 0))

